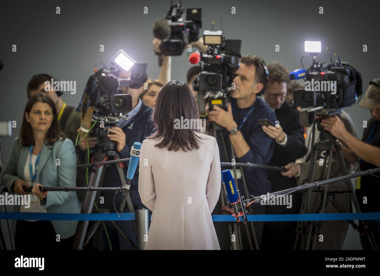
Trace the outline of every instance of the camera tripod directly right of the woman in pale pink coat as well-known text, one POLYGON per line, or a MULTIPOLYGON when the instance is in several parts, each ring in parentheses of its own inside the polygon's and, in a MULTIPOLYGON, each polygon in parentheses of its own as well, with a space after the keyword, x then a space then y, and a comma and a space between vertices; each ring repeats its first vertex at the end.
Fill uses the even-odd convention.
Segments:
MULTIPOLYGON (((211 128, 209 128, 208 131, 212 132, 213 136, 216 139, 217 139, 218 135, 220 136, 220 138, 222 140, 225 158, 226 158, 226 161, 228 161, 229 158, 228 158, 227 147, 226 147, 226 143, 225 143, 225 139, 224 139, 224 134, 226 133, 226 129, 218 126, 216 123, 212 123, 211 128)), ((236 159, 232 144, 231 144, 231 158, 236 159)), ((248 195, 247 183, 246 183, 245 177, 244 177, 243 167, 239 167, 239 169, 241 171, 242 181, 243 181, 243 185, 244 185, 244 189, 245 189, 245 193, 246 193, 245 198, 248 198, 249 195, 248 195)), ((233 166, 233 171, 234 171, 234 181, 236 184, 236 188, 239 189, 239 185, 237 182, 236 166, 233 166)), ((223 186, 223 184, 221 183, 221 188, 222 188, 222 186, 223 186)), ((226 194, 223 191, 223 189, 222 189, 222 192, 220 193, 220 201, 221 201, 222 206, 227 206, 228 200, 227 200, 226 194)), ((241 226, 240 223, 234 223, 234 224, 229 223, 228 224, 230 237, 233 235, 233 233, 236 233, 236 238, 237 238, 236 241, 237 242, 232 243, 234 250, 242 250, 243 249, 243 242, 242 242, 242 238, 241 238, 242 235, 241 235, 241 227, 240 226, 241 226)), ((249 226, 251 227, 251 230, 252 230, 252 237, 253 237, 253 241, 255 243, 255 249, 259 250, 259 244, 258 244, 257 237, 256 237, 255 227, 253 226, 252 221, 249 221, 247 224, 243 225, 243 227, 245 228, 246 234, 247 234, 249 249, 253 250, 253 244, 252 244, 251 236, 249 235, 250 234, 249 226)))

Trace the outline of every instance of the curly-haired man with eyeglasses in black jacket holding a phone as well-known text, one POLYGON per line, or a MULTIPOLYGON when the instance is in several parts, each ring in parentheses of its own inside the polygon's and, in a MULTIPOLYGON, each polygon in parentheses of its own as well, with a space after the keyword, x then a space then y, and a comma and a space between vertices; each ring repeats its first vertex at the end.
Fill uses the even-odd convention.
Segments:
MULTIPOLYGON (((263 131, 275 140, 274 152, 268 165, 285 166, 301 158, 307 152, 304 140, 304 128, 299 121, 299 112, 285 101, 289 73, 280 62, 268 65, 269 82, 266 85, 263 100, 274 110, 277 120, 275 126, 262 126, 263 131)), ((281 191, 297 186, 296 178, 288 178, 278 171, 268 171, 272 191, 281 191)), ((268 205, 268 214, 299 213, 301 197, 298 192, 292 194, 291 208, 285 205, 268 205)), ((265 222, 262 243, 265 248, 293 249, 296 237, 295 221, 265 222)), ((263 249, 265 249, 263 248, 263 249)))

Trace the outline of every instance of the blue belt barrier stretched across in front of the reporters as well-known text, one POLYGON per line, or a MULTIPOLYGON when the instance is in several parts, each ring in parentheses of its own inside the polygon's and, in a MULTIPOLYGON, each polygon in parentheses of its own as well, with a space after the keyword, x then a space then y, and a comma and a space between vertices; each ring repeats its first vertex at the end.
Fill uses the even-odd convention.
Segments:
MULTIPOLYGON (((149 216, 150 217, 150 216, 149 216)), ((236 221, 228 214, 212 215, 217 222, 236 221)), ((327 213, 327 214, 250 214, 248 221, 348 221, 377 220, 380 212, 374 213, 327 213)), ((0 219, 38 219, 41 221, 134 221, 135 213, 123 213, 121 218, 116 213, 107 214, 61 214, 61 213, 19 213, 1 212, 0 219)))

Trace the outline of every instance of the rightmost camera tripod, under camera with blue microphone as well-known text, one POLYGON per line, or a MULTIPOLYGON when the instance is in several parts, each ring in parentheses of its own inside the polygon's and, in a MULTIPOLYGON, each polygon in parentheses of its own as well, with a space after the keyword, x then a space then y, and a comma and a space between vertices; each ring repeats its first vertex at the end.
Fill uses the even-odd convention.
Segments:
MULTIPOLYGON (((316 121, 314 117, 313 126, 312 126, 312 134, 311 134, 313 149, 310 152, 310 168, 309 168, 309 177, 308 177, 307 183, 313 182, 313 179, 315 176, 315 164, 317 162, 317 153, 321 151, 326 151, 326 155, 325 155, 326 158, 324 162, 325 166, 323 166, 321 169, 320 179, 324 178, 323 176, 325 175, 326 166, 327 166, 326 179, 330 178, 332 154, 334 151, 336 152, 336 156, 338 158, 337 162, 339 162, 340 166, 342 167, 344 175, 347 175, 348 169, 346 167, 346 163, 343 158, 342 149, 339 145, 339 142, 334 136, 332 136, 329 132, 326 132, 323 130, 320 133, 320 138, 321 138, 320 142, 317 142, 314 144, 315 125, 316 125, 316 121)), ((359 202, 356 197, 355 190, 353 189, 350 179, 345 180, 344 182, 342 182, 342 184, 343 183, 347 184, 347 191, 328 191, 328 188, 329 188, 328 185, 325 186, 325 189, 323 191, 320 189, 320 186, 318 186, 316 191, 312 191, 312 188, 309 188, 307 193, 305 193, 302 197, 300 213, 312 213, 312 211, 315 210, 318 199, 316 198, 314 200, 313 208, 311 208, 312 192, 314 193, 323 192, 323 199, 320 205, 318 206, 316 213, 324 213, 328 202, 331 202, 332 206, 336 208, 336 210, 339 211, 340 213, 345 213, 345 211, 339 206, 339 203, 336 202, 334 198, 335 194, 339 194, 339 193, 340 194, 348 193, 350 196, 350 204, 352 203, 353 206, 355 207, 356 212, 360 213, 361 211, 360 211, 359 202)), ((330 185, 330 186, 334 186, 334 185, 330 185)), ((375 243, 374 237, 371 232, 369 232, 367 229, 360 228, 352 220, 348 222, 351 224, 351 226, 353 226, 355 230, 358 230, 361 234, 367 236, 372 249, 377 249, 377 245, 375 243)), ((364 225, 364 221, 361 221, 361 223, 364 225)), ((306 229, 306 238, 305 239, 302 238, 302 240, 305 240, 305 243, 301 242, 300 247, 308 250, 310 249, 310 243, 311 243, 312 249, 314 250, 317 235, 319 235, 322 232, 322 222, 321 221, 310 221, 310 222, 298 221, 297 227, 296 227, 296 232, 297 232, 296 240, 294 242, 293 249, 296 249, 298 245, 299 236, 300 235, 304 236, 304 233, 303 233, 304 228, 306 229)))

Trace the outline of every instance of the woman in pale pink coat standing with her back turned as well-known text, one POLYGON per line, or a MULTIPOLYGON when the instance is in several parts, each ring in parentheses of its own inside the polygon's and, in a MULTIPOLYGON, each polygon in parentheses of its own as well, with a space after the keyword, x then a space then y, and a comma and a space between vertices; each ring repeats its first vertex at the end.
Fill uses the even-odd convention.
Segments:
POLYGON ((168 82, 140 150, 139 194, 153 212, 145 249, 220 249, 211 218, 221 188, 218 145, 200 124, 178 124, 186 119, 199 120, 194 96, 184 82, 168 82))

